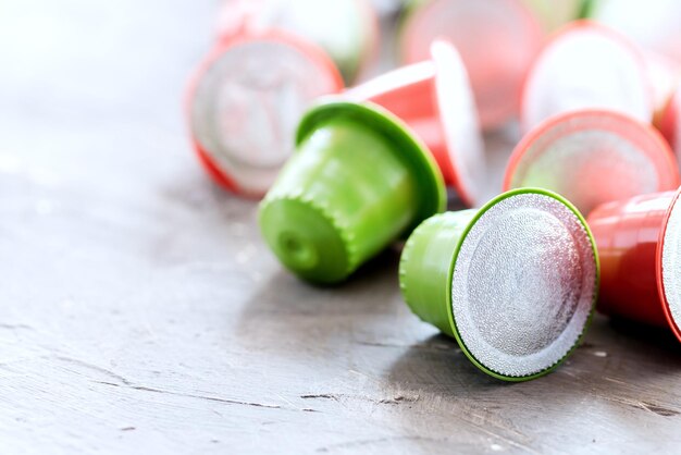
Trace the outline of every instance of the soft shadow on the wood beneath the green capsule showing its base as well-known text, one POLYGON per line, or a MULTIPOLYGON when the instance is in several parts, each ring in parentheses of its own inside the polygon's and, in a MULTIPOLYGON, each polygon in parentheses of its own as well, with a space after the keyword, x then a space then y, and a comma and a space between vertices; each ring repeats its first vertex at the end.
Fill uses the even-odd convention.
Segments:
POLYGON ((387 249, 334 286, 305 282, 277 268, 238 313, 242 343, 286 357, 329 357, 350 349, 354 333, 372 331, 403 305, 399 253, 387 249))

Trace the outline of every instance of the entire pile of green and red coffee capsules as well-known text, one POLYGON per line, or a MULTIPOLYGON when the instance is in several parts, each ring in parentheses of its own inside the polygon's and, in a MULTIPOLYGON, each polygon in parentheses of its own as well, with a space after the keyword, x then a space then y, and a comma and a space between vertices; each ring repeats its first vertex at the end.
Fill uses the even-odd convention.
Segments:
POLYGON ((405 302, 495 378, 554 370, 594 309, 681 341, 679 4, 412 1, 386 44, 369 0, 231 0, 191 138, 306 281, 406 241, 405 302), (520 133, 487 200, 499 128, 520 133))

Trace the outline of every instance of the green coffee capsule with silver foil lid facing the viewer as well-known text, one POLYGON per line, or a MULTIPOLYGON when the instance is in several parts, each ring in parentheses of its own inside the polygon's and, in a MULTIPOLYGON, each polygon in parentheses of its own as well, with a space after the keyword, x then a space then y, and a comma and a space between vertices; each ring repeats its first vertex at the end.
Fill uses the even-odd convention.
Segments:
POLYGON ((562 197, 523 188, 434 216, 401 255, 405 300, 487 374, 525 381, 577 347, 598 292, 595 244, 562 197))

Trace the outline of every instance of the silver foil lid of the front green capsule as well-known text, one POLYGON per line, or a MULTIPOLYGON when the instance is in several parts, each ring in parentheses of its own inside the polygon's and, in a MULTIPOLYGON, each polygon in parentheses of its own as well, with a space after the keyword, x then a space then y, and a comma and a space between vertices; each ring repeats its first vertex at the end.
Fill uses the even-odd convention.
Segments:
POLYGON ((519 193, 482 209, 451 279, 456 330, 484 368, 528 377, 575 346, 597 293, 591 236, 561 200, 519 193))

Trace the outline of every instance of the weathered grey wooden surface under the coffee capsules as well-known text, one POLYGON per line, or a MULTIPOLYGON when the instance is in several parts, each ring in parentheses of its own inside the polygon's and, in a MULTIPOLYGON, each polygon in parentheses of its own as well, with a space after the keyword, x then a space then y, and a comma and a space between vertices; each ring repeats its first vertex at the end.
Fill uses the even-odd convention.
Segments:
POLYGON ((0 453, 679 451, 665 333, 599 317, 506 384, 410 315, 398 251, 337 288, 283 271, 186 139, 216 7, 1 3, 0 453))

